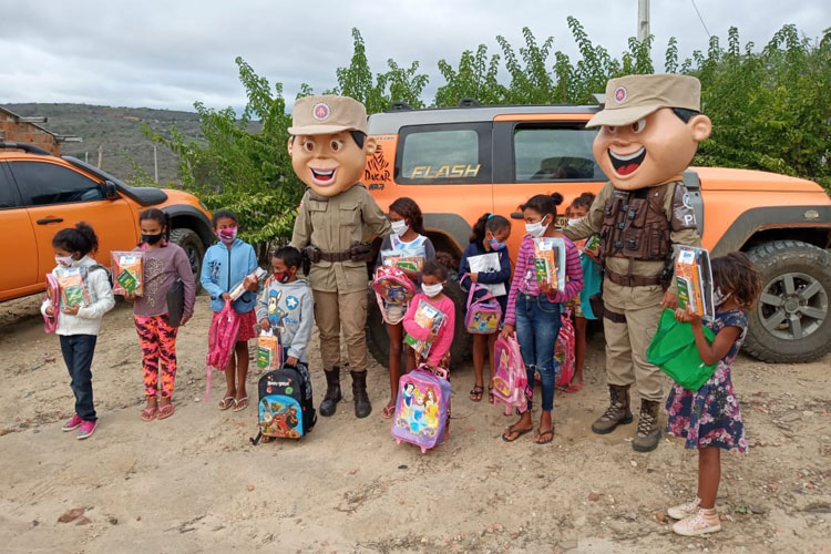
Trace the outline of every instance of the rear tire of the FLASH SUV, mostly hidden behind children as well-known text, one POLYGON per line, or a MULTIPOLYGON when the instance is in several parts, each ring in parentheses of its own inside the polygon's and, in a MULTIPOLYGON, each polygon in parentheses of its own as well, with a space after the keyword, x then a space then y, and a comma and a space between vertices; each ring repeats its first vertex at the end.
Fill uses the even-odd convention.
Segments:
MULTIPOLYGON (((471 358, 472 341, 470 335, 464 330, 464 304, 468 296, 462 293, 459 283, 448 279, 444 294, 455 305, 455 329, 453 345, 450 347, 450 367, 456 368, 471 358)), ((367 309, 367 348, 372 358, 383 367, 389 365, 390 338, 387 335, 387 325, 381 317, 376 294, 370 288, 367 309)), ((402 366, 403 367, 403 361, 402 366)))

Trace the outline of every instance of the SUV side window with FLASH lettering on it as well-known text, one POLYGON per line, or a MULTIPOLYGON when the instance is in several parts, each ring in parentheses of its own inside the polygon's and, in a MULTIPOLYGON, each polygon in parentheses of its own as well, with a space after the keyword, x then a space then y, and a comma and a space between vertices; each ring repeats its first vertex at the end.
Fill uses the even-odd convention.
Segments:
POLYGON ((444 124, 402 127, 396 182, 404 184, 490 183, 491 125, 444 124))

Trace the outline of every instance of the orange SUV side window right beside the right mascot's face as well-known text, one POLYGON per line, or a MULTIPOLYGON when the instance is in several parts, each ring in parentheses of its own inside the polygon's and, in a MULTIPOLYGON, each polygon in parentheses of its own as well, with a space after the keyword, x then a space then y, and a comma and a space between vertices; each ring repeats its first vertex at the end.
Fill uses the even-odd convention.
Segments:
POLYGON ((582 124, 517 125, 514 129, 516 182, 606 181, 592 152, 596 133, 582 124))

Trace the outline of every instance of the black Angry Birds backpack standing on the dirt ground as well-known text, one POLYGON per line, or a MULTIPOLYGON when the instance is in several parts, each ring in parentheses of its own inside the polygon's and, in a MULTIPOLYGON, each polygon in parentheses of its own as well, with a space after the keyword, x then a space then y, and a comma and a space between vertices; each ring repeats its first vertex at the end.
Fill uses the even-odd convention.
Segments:
POLYGON ((311 378, 306 363, 283 365, 259 378, 257 419, 259 432, 249 439, 255 447, 263 437, 300 439, 315 427, 317 413, 311 396, 311 378))

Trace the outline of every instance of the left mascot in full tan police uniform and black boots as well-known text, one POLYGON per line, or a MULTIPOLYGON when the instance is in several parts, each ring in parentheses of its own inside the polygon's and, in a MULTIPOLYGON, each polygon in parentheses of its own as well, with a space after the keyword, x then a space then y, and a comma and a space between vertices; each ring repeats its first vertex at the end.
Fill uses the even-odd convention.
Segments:
POLYGON ((376 151, 367 136, 367 110, 345 96, 306 96, 295 103, 288 153, 297 176, 309 188, 295 220, 291 246, 311 261, 309 284, 320 331, 326 372, 321 416, 332 416, 340 393, 340 334, 347 346, 355 414, 372 411, 367 396, 368 236, 389 235, 390 224, 359 183, 367 156, 376 151))

